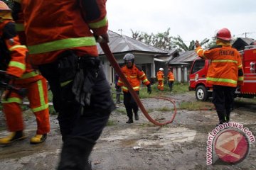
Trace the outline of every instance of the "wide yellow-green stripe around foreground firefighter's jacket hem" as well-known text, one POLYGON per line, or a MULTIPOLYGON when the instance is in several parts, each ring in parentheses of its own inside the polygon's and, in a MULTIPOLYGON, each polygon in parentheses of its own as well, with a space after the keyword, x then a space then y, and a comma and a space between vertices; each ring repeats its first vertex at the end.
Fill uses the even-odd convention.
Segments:
POLYGON ((52 52, 72 47, 93 46, 96 45, 94 37, 67 38, 63 40, 55 40, 38 45, 28 46, 29 54, 41 54, 43 52, 52 52))

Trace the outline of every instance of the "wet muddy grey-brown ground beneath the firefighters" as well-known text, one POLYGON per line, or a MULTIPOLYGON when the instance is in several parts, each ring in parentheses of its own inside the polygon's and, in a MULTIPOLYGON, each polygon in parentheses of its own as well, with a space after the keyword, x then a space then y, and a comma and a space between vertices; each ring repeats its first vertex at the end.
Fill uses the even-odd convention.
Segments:
MULTIPOLYGON (((174 99, 177 107, 184 101, 196 101, 193 93, 167 96, 174 99)), ((250 103, 250 100, 245 101, 236 99, 230 119, 241 123, 256 136, 256 105, 250 103)), ((173 105, 169 101, 145 98, 142 103, 152 118, 161 122, 171 120, 174 111, 170 109, 173 105)), ((210 102, 205 109, 197 111, 178 108, 174 122, 162 127, 149 123, 141 111, 138 121, 127 124, 124 106, 118 106, 91 154, 94 170, 256 169, 256 142, 250 144, 250 153, 239 164, 215 162, 213 165, 206 165, 208 132, 218 122, 210 102)), ((36 123, 33 115, 27 116, 25 123, 28 138, 0 147, 0 169, 55 169, 62 142, 56 116, 52 115, 50 120, 51 131, 46 142, 30 145, 29 137, 36 132, 36 123)), ((6 134, 6 130, 0 131, 0 137, 6 134)))

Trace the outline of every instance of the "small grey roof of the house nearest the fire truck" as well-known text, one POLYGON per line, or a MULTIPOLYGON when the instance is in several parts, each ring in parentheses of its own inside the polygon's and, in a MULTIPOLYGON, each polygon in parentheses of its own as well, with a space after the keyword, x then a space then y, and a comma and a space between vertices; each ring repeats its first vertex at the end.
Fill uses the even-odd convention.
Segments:
POLYGON ((198 57, 196 54, 196 51, 188 51, 188 52, 182 52, 178 57, 174 57, 173 60, 169 62, 169 64, 172 64, 173 62, 193 62, 198 57))

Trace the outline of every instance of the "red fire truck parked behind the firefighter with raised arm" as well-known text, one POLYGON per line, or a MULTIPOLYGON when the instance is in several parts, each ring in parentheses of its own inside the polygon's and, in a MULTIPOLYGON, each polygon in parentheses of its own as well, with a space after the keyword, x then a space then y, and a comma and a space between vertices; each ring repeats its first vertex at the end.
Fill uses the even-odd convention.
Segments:
MULTIPOLYGON (((256 96, 256 45, 245 46, 240 51, 244 71, 244 84, 235 91, 236 97, 253 98, 256 96)), ((213 86, 206 83, 210 60, 198 57, 192 64, 189 75, 189 91, 196 91, 198 101, 206 101, 212 96, 213 86)))

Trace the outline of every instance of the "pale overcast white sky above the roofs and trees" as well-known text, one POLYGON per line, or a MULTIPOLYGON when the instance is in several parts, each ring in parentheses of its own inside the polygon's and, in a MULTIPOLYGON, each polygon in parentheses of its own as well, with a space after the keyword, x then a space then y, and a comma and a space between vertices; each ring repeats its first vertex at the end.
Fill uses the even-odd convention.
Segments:
POLYGON ((191 40, 211 38, 220 28, 256 40, 255 0, 107 0, 109 30, 132 37, 131 29, 191 40))

